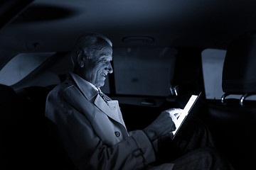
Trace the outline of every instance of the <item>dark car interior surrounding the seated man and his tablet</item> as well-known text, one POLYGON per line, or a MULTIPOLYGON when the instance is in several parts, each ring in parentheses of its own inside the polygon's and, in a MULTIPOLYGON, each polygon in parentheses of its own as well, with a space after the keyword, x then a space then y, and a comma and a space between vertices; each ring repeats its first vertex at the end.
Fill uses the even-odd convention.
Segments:
POLYGON ((193 114, 218 152, 234 169, 256 169, 255 8, 252 0, 2 0, 1 166, 75 169, 44 116, 46 97, 73 71, 75 40, 97 32, 113 42, 102 91, 119 101, 127 130, 201 92, 193 114))

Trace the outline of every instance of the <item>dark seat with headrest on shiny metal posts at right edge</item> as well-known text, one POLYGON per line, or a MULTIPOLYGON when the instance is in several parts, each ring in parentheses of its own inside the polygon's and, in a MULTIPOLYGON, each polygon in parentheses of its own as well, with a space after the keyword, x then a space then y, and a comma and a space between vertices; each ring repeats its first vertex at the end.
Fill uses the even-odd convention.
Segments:
POLYGON ((222 99, 208 102, 213 138, 235 169, 256 169, 256 101, 247 100, 256 94, 255 73, 255 38, 235 40, 223 65, 222 99))

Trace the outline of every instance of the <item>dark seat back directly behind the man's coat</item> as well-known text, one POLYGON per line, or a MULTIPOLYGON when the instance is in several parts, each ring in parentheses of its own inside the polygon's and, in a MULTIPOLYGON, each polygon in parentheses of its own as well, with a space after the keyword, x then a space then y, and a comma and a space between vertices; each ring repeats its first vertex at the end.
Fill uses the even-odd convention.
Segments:
POLYGON ((45 117, 46 97, 54 86, 28 86, 16 91, 22 105, 29 169, 75 169, 60 147, 53 123, 45 117))

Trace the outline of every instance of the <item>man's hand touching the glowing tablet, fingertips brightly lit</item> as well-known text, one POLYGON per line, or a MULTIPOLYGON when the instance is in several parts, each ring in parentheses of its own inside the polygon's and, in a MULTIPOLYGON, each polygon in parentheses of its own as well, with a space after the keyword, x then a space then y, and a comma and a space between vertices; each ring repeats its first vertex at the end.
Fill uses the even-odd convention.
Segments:
POLYGON ((143 130, 147 137, 149 137, 149 140, 153 141, 162 135, 176 130, 175 122, 182 111, 180 108, 171 108, 161 112, 159 117, 143 130))

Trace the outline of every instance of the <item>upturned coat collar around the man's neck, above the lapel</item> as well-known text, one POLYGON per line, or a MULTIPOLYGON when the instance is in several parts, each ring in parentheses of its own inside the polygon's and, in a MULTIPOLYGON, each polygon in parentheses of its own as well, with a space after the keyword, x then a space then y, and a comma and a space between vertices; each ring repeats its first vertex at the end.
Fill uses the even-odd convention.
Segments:
POLYGON ((80 89, 80 91, 82 91, 82 94, 84 94, 88 101, 92 100, 92 98, 94 98, 98 94, 97 87, 95 87, 89 81, 82 79, 82 77, 78 76, 78 74, 72 72, 70 72, 70 75, 75 81, 75 84, 78 85, 78 88, 80 89))

